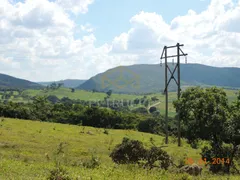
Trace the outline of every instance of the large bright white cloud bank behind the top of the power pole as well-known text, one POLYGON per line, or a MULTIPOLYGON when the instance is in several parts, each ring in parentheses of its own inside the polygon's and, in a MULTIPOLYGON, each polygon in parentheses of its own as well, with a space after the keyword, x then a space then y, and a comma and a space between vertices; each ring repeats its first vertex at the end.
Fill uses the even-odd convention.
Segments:
POLYGON ((161 15, 140 12, 131 18, 131 29, 113 40, 112 53, 121 50, 146 57, 145 63, 158 63, 164 45, 180 42, 185 44, 188 62, 240 67, 239 12, 240 1, 232 0, 212 0, 205 11, 189 10, 169 24, 161 15))

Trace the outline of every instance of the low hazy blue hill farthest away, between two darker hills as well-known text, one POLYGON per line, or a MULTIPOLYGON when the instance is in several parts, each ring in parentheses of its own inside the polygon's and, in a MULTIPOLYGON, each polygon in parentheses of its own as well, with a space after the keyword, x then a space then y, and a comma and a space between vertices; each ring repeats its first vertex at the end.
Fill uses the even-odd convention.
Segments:
POLYGON ((52 83, 63 83, 63 87, 66 88, 75 88, 77 86, 80 86, 83 84, 86 80, 80 80, 80 79, 65 79, 60 81, 51 81, 51 82, 37 82, 38 84, 41 84, 43 86, 48 86, 52 83))

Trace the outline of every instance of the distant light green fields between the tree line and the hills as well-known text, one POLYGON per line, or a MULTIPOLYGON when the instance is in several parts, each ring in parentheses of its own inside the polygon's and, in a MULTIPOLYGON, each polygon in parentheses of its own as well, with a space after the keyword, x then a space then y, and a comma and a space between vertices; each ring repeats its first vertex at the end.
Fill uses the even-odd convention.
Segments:
MULTIPOLYGON (((225 90, 228 96, 229 101, 233 101, 236 99, 236 90, 225 90)), ((84 90, 75 90, 75 92, 71 92, 71 89, 69 88, 60 88, 57 90, 49 90, 48 92, 45 92, 43 90, 25 90, 22 93, 23 95, 28 95, 30 97, 33 96, 49 96, 49 95, 55 95, 58 98, 63 98, 63 97, 68 97, 70 99, 80 99, 80 100, 85 100, 85 101, 99 101, 99 100, 104 100, 104 97, 106 97, 106 93, 100 93, 100 92, 89 92, 89 91, 84 91, 84 90)), ((14 92, 14 95, 17 95, 17 92, 14 92)), ((136 98, 143 98, 144 95, 130 95, 130 94, 112 94, 110 99, 111 100, 125 100, 125 101, 133 101, 136 98)), ((151 104, 156 104, 156 107, 162 114, 165 114, 165 95, 162 93, 156 93, 156 94, 151 94, 147 95, 148 98, 156 96, 159 101, 158 102, 151 102, 151 104)), ((172 102, 177 99, 177 93, 176 92, 170 92, 169 93, 169 116, 174 116, 175 113, 175 108, 172 105, 172 102)), ((1 99, 1 96, 0 96, 1 99)), ((14 98, 11 96, 10 98, 11 101, 13 102, 29 102, 29 100, 26 100, 22 97, 14 98)), ((130 107, 130 109, 133 109, 136 107, 130 107)))

